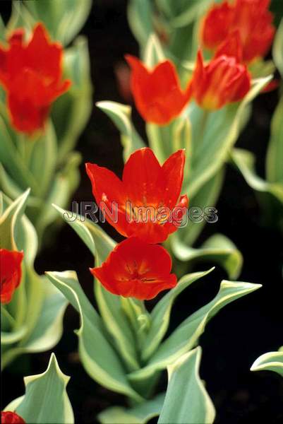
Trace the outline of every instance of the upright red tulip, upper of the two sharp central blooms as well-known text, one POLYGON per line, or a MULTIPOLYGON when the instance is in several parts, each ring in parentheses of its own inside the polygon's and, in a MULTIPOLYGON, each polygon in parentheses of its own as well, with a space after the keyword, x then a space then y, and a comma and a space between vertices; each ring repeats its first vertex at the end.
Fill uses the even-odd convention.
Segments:
POLYGON ((184 163, 183 150, 161 166, 150 148, 140 148, 128 158, 122 180, 92 163, 86 170, 97 204, 121 235, 161 243, 181 225, 188 207, 188 197, 180 197, 184 163), (107 213, 114 209, 116 214, 107 213))

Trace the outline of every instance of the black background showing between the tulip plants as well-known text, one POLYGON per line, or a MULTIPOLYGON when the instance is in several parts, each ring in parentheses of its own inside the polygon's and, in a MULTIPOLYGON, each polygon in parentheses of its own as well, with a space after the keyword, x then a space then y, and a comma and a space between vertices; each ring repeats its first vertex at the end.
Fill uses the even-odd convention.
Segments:
MULTIPOLYGON (((9 1, 1 2, 0 10, 4 18, 8 18, 10 8, 9 1)), ((82 33, 89 40, 95 92, 92 116, 77 146, 78 151, 83 154, 82 179, 73 199, 92 201, 84 163, 90 161, 107 166, 118 175, 121 175, 123 169, 119 132, 110 119, 95 107, 95 102, 125 102, 119 94, 114 69, 123 62, 124 54, 138 55, 138 45, 128 28, 124 0, 95 0, 82 33)), ((251 120, 237 142, 237 146, 256 154, 258 173, 262 176, 270 119, 277 104, 277 95, 274 91, 260 95, 255 100, 251 120)), ((144 134, 143 122, 136 112, 134 121, 141 134, 144 134)), ((239 280, 260 283, 263 288, 236 300, 212 319, 200 339, 203 347, 200 375, 205 379, 207 391, 215 404, 216 423, 279 424, 283 422, 283 380, 272 372, 250 372, 249 369, 259 355, 277 351, 283 344, 282 235, 276 229, 274 220, 267 222, 254 192, 232 167, 227 167, 217 209, 219 221, 206 226, 199 242, 215 232, 223 232, 230 237, 244 257, 239 280)), ((105 229, 116 240, 121 240, 112 228, 105 225, 105 229)), ((40 273, 46 270, 75 269, 85 292, 94 302, 92 278, 88 271, 88 267, 92 265, 93 258, 88 249, 75 232, 64 225, 54 245, 41 252, 36 269, 40 273)), ((212 264, 200 264, 195 269, 207 269, 210 265, 212 264)), ((227 276, 222 269, 217 268, 210 276, 186 290, 176 301, 171 329, 211 300, 217 293, 222 278, 227 276)), ((76 312, 68 307, 64 319, 64 336, 53 351, 61 369, 71 375, 68 395, 76 422, 95 423, 97 413, 108 406, 124 405, 125 399, 124 396, 100 387, 83 370, 76 353, 77 338, 73 334, 73 329, 78 326, 76 312)), ((23 394, 23 375, 36 374, 46 369, 49 355, 50 352, 20 357, 3 372, 2 407, 23 394)), ((165 389, 166 384, 164 373, 159 389, 165 389)))

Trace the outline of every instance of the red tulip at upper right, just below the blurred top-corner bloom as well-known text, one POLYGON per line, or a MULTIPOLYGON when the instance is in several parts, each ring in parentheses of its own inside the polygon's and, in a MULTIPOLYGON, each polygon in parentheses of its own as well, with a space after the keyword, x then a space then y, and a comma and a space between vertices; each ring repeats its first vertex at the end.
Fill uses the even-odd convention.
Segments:
POLYGON ((235 57, 216 55, 205 66, 203 56, 198 52, 191 85, 198 105, 217 110, 227 103, 241 100, 251 87, 251 78, 246 65, 237 63, 235 57))

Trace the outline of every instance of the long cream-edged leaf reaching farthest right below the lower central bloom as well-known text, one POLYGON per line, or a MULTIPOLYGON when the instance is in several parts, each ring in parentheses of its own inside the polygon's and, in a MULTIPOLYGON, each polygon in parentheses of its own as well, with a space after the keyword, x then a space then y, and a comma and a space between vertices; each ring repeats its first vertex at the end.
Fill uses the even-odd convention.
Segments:
POLYGON ((167 365, 174 363, 181 355, 190 351, 198 343, 198 339, 201 334, 203 334, 203 331, 205 331, 207 322, 209 322, 222 307, 260 287, 260 284, 222 281, 219 292, 215 298, 185 319, 176 330, 159 345, 159 348, 157 348, 157 351, 152 355, 147 365, 128 375, 129 379, 133 382, 147 379, 157 370, 163 370, 167 365))

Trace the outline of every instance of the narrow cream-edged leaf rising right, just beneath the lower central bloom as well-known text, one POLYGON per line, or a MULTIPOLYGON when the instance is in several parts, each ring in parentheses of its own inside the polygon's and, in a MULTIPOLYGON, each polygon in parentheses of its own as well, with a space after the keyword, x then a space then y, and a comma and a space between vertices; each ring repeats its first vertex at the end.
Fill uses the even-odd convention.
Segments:
POLYGON ((183 276, 176 287, 172 288, 172 290, 164 295, 157 305, 155 305, 150 314, 152 324, 143 343, 142 359, 144 361, 147 361, 150 356, 152 356, 166 334, 169 327, 171 309, 177 296, 179 296, 189 285, 199 278, 206 276, 212 270, 213 268, 207 271, 189 273, 183 276))

